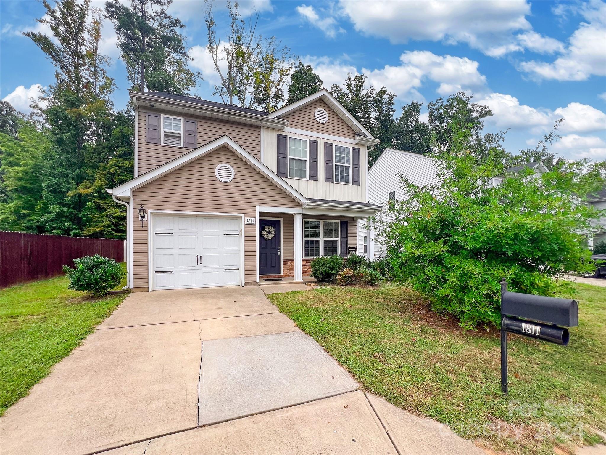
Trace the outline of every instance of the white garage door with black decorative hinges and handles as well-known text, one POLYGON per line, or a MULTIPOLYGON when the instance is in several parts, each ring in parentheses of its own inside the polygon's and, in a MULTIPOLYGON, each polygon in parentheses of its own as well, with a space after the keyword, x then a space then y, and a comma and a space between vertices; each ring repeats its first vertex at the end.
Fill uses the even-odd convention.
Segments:
POLYGON ((153 289, 237 286, 241 218, 153 215, 153 289))

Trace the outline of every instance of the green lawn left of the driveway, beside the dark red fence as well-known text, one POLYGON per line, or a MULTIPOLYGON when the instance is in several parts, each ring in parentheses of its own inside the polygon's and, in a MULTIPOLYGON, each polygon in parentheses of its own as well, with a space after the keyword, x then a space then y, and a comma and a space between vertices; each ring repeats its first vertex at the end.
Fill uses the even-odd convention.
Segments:
POLYGON ((56 277, 0 291, 0 416, 127 295, 88 298, 67 285, 56 277))

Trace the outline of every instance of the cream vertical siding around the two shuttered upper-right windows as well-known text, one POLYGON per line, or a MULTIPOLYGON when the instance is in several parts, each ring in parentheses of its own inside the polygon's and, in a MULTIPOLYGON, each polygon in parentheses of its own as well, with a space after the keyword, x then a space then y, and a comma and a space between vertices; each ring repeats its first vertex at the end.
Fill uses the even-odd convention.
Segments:
MULTIPOLYGON (((315 120, 314 120, 315 121, 315 120)), ((284 178, 287 183, 308 198, 331 199, 335 201, 367 202, 366 200, 366 178, 368 169, 368 153, 365 146, 357 146, 350 143, 332 141, 307 136, 298 133, 287 133, 280 130, 263 129, 263 164, 273 172, 278 173, 278 134, 289 138, 299 138, 318 141, 318 180, 303 180, 301 178, 284 178), (345 183, 333 183, 324 181, 324 143, 328 142, 338 146, 358 147, 360 149, 360 184, 352 185, 345 183)), ((309 174, 309 166, 307 169, 309 174)))

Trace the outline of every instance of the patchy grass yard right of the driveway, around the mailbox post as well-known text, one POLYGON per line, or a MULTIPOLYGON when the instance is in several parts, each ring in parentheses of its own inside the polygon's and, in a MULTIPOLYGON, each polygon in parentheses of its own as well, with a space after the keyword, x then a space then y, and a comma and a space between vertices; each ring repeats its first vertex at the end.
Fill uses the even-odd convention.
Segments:
POLYGON ((464 332, 410 289, 329 286, 268 297, 365 389, 508 454, 573 453, 606 430, 606 289, 575 285, 567 348, 510 336, 501 395, 498 331, 464 332))

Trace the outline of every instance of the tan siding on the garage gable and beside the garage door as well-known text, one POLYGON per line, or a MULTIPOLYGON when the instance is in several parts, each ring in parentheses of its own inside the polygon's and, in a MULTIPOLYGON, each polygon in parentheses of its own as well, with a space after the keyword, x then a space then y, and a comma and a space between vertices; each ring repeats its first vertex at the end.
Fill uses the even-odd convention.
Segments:
MULTIPOLYGON (((256 217, 257 205, 301 207, 282 189, 228 149, 219 149, 133 191, 133 207, 176 212, 212 212, 256 217), (218 164, 230 164, 235 177, 228 183, 215 176, 218 164)), ((133 288, 147 289, 147 223, 141 227, 133 211, 133 288)), ((256 224, 244 226, 244 281, 256 281, 256 224)))

